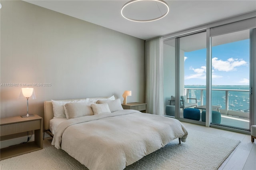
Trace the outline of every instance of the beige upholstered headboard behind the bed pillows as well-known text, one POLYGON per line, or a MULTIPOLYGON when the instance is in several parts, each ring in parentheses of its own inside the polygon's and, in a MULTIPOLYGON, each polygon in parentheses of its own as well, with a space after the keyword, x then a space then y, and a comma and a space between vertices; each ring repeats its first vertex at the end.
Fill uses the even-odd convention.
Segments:
MULTIPOLYGON (((89 99, 115 99, 114 95, 110 97, 92 97, 89 99)), ((83 98, 85 99, 85 98, 83 98)), ((56 101, 71 101, 76 99, 65 99, 65 100, 56 100, 56 101)), ((44 129, 49 130, 50 128, 50 120, 53 119, 53 108, 52 108, 52 101, 44 101, 44 129)))

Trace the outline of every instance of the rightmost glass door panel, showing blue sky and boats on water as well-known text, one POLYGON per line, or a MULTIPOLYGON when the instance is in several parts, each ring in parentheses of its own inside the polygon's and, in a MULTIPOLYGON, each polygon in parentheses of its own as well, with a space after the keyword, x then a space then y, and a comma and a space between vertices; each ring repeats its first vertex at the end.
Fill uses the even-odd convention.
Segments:
POLYGON ((212 36, 212 124, 249 129, 249 83, 250 30, 212 36))

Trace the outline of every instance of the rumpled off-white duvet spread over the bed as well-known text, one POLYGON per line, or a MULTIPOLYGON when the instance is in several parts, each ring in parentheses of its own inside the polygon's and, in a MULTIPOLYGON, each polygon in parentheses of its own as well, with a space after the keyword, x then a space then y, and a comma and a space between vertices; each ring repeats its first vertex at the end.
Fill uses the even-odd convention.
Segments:
POLYGON ((187 134, 176 119, 122 110, 68 119, 56 129, 52 145, 90 170, 122 170, 171 140, 185 142, 187 134))

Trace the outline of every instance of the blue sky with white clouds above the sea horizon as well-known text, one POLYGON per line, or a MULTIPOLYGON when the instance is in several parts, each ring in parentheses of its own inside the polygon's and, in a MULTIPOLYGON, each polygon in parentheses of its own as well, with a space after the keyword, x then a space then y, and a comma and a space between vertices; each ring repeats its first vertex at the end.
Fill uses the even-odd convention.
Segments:
MULTIPOLYGON (((212 47, 212 85, 249 85, 249 39, 212 47)), ((206 49, 185 52, 184 85, 206 85, 206 49)))

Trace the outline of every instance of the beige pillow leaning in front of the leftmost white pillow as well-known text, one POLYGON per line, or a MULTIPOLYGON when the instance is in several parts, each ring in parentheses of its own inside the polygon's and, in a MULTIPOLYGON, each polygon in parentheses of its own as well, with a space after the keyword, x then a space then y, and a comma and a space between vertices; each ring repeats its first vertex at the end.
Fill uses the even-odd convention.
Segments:
POLYGON ((64 105, 67 119, 93 115, 92 103, 66 103, 64 105))

